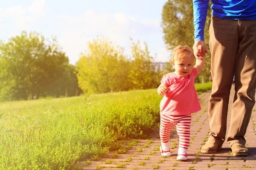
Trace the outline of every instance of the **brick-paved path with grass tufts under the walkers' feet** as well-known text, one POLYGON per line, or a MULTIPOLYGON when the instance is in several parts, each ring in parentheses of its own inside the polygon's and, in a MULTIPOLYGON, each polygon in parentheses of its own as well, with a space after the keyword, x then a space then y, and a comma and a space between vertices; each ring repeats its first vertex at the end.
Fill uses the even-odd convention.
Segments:
MULTIPOLYGON (((245 136, 247 140, 246 146, 250 152, 248 156, 233 156, 227 141, 224 142, 222 150, 217 153, 202 154, 200 152, 202 145, 209 135, 209 95, 210 93, 202 93, 198 96, 202 110, 192 115, 191 144, 188 150, 187 161, 176 160, 178 135, 175 129, 172 130, 170 138, 170 147, 173 147, 171 149, 172 156, 166 158, 161 156, 159 151, 159 128, 156 128, 154 133, 151 134, 150 139, 137 141, 137 146, 132 146, 124 154, 118 154, 117 158, 112 158, 115 152, 112 151, 105 158, 93 161, 88 166, 83 166, 86 160, 80 161, 81 168, 83 170, 256 170, 256 105, 253 108, 254 110, 245 136)), ((234 90, 232 89, 227 129, 229 129, 230 125, 233 96, 234 90)))

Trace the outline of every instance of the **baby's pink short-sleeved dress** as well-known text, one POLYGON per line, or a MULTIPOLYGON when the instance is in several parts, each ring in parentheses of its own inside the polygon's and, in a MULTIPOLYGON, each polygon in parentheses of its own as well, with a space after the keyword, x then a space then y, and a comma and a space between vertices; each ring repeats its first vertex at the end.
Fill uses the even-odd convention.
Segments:
POLYGON ((186 77, 178 76, 175 73, 163 76, 161 83, 169 89, 160 102, 160 114, 189 115, 201 110, 195 91, 196 76, 195 68, 186 77))

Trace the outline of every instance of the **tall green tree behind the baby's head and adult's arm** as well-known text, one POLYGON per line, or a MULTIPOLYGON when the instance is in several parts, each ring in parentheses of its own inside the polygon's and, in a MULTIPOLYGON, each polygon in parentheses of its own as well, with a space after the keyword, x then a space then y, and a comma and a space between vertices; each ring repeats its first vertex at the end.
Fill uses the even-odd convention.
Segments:
MULTIPOLYGON (((209 1, 207 21, 204 29, 204 39, 209 51, 209 25, 211 17, 211 2, 209 1)), ((163 39, 169 50, 177 45, 194 45, 193 2, 192 0, 168 0, 163 6, 162 24, 163 39)), ((206 63, 202 75, 210 77, 210 54, 206 55, 206 63)))

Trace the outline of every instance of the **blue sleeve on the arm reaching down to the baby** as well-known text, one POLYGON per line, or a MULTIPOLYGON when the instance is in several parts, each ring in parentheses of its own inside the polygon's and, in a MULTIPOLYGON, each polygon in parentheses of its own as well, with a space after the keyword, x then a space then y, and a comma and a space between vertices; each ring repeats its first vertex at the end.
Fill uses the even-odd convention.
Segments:
POLYGON ((209 7, 209 0, 193 0, 195 41, 204 40, 204 26, 209 7))

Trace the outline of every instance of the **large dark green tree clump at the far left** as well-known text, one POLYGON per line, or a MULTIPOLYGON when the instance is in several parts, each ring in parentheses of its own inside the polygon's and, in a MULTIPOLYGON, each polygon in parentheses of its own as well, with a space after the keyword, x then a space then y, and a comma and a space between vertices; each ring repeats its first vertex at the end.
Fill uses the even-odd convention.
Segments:
POLYGON ((72 96, 81 93, 74 82, 74 67, 55 39, 23 31, 0 42, 0 100, 72 96))

